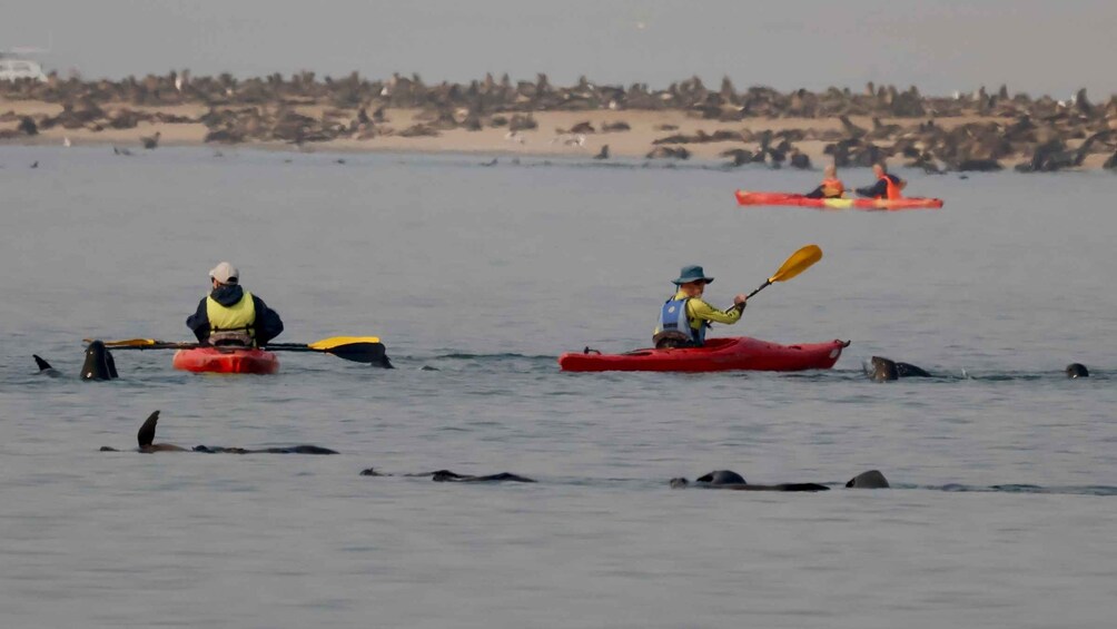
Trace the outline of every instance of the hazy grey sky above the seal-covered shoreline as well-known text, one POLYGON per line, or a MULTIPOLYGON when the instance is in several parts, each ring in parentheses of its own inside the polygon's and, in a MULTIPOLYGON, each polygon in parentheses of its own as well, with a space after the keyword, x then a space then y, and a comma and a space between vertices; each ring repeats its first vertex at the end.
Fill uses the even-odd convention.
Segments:
POLYGON ((728 75, 738 88, 1086 86, 1099 101, 1117 93, 1115 27, 1113 0, 6 0, 0 49, 49 36, 44 66, 86 77, 544 72, 666 87, 728 75))

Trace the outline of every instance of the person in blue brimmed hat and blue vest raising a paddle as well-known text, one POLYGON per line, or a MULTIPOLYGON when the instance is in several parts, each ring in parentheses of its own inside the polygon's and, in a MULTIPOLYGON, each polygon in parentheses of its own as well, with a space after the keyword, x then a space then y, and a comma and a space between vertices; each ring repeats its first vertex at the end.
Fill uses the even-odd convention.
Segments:
POLYGON ((656 347, 700 347, 710 322, 733 325, 741 321, 747 299, 743 294, 733 298, 734 305, 727 311, 703 301, 706 285, 713 282, 698 265, 682 267, 679 278, 674 280, 678 292, 659 311, 659 325, 651 337, 656 347))

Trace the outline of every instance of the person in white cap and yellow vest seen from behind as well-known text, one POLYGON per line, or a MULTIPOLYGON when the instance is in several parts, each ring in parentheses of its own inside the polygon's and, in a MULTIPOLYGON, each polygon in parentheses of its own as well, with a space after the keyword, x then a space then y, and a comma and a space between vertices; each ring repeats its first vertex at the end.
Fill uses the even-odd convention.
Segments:
POLYGON ((283 332, 283 321, 264 299, 240 286, 240 271, 229 263, 210 270, 213 289, 187 318, 200 343, 210 345, 266 345, 283 332))

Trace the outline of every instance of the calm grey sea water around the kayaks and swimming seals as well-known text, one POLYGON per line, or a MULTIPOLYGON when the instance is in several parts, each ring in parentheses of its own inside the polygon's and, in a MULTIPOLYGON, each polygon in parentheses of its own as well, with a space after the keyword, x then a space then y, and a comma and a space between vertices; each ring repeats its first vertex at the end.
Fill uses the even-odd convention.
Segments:
POLYGON ((944 209, 821 213, 733 199, 819 173, 483 161, 0 147, 3 625, 1111 626, 1117 178, 913 172, 944 209), (808 242, 818 265, 714 333, 852 340, 834 370, 557 370, 647 345, 680 266, 728 305, 808 242), (84 337, 188 340, 221 259, 281 341, 380 335, 399 369, 122 351, 121 380, 76 380, 84 337), (873 354, 937 377, 869 382, 873 354), (342 454, 97 451, 155 409, 160 441, 342 454), (667 486, 718 468, 896 487, 667 486))

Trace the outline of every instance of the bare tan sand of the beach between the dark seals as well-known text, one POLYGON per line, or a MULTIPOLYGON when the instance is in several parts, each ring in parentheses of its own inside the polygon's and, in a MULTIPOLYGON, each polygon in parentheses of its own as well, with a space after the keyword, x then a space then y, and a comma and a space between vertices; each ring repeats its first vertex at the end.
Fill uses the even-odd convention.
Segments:
MULTIPOLYGON (((819 170, 833 160, 827 154, 827 146, 843 137, 857 137, 860 130, 869 132, 865 136, 877 143, 892 142, 891 149, 887 144, 881 144, 882 149, 891 151, 894 154, 889 159, 892 165, 915 165, 911 162, 911 154, 900 155, 897 150, 898 141, 905 140, 910 147, 930 156, 935 149, 929 143, 920 144, 919 134, 925 132, 925 124, 935 125, 936 133, 949 133, 960 126, 987 125, 992 128, 1008 130, 1011 125, 1019 123, 1020 114, 1008 115, 1004 111, 992 112, 991 115, 981 115, 967 111, 953 112, 944 117, 934 116, 904 116, 884 117, 872 115, 848 115, 846 122, 839 116, 804 117, 795 115, 766 115, 743 117, 739 120, 718 120, 703 116, 694 108, 596 108, 586 111, 532 111, 523 112, 493 112, 484 121, 470 127, 465 124, 467 109, 445 106, 439 111, 432 107, 392 107, 388 104, 381 105, 376 111, 376 121, 373 124, 369 121, 366 108, 370 107, 336 107, 321 102, 312 101, 299 104, 297 102, 265 103, 256 105, 229 104, 223 107, 210 107, 199 102, 184 102, 181 104, 149 105, 132 102, 109 101, 98 103, 104 123, 86 125, 45 125, 42 121, 50 118, 59 120, 66 111, 61 103, 45 102, 37 99, 18 99, 9 96, 0 96, 0 142, 9 144, 63 144, 68 140, 71 145, 116 145, 120 147, 139 147, 141 139, 160 134, 161 145, 219 145, 220 141, 213 141, 211 132, 220 128, 231 128, 235 123, 241 125, 244 116, 250 115, 256 121, 266 120, 269 122, 257 124, 257 128, 271 125, 269 130, 256 135, 247 135, 238 139, 235 143, 241 146, 258 147, 264 150, 299 150, 299 151, 340 151, 340 152, 426 152, 426 153, 476 153, 484 155, 517 155, 517 156, 584 156, 592 159, 623 158, 623 159, 656 159, 665 155, 655 155, 651 152, 657 146, 671 146, 675 150, 682 149, 686 156, 699 161, 728 163, 733 155, 729 151, 764 152, 760 142, 760 136, 765 132, 771 132, 774 136, 772 145, 775 145, 781 137, 781 133, 794 133, 796 136, 783 152, 801 153, 810 159, 809 168, 819 170), (203 116, 214 115, 216 111, 223 109, 230 122, 225 123, 225 127, 209 121, 207 124, 203 116), (251 112, 251 114, 245 114, 251 112), (289 137, 277 139, 269 136, 277 124, 275 121, 284 116, 304 116, 304 126, 316 126, 322 130, 333 127, 333 132, 325 136, 314 137, 307 141, 296 142, 289 137), (436 115, 442 117, 436 120, 436 115), (510 132, 507 122, 495 123, 498 117, 510 118, 512 116, 529 116, 536 126, 534 128, 523 128, 510 132), (135 116, 139 120, 131 123, 125 128, 117 128, 112 124, 113 118, 122 116, 135 116), (236 118, 235 116, 241 116, 236 118), (40 128, 35 135, 21 135, 18 132, 19 123, 25 118, 39 121, 40 128), (160 117, 162 120, 153 120, 160 117), (173 122, 168 122, 174 118, 173 122), (456 120, 454 120, 456 118, 456 120), (305 122, 309 121, 309 123, 305 122), (928 122, 932 121, 932 122, 928 122), (439 124, 439 123, 443 124, 439 124), (623 123, 623 124, 622 124, 623 123), (851 123, 859 127, 850 135, 851 123), (68 128, 67 128, 68 127, 68 128), (410 133, 416 128, 422 132, 410 133), (890 131, 884 131, 890 128, 890 131), (572 132, 572 130, 574 130, 572 132), (881 133, 877 133, 880 131, 881 133), (676 141, 665 140, 676 137, 676 141), (678 140, 679 136, 690 136, 678 140), (602 150, 608 146, 608 158, 600 156, 602 150), (930 146, 928 152, 928 146, 930 146)), ((73 104, 70 105, 73 111, 73 104)), ((1027 120, 1027 115, 1024 115, 1027 120)), ((1102 121, 1109 123, 1113 128, 1113 120, 1102 121)), ((1059 137, 1066 150, 1077 150, 1083 141, 1085 134, 1078 127, 1071 127, 1067 123, 1051 122, 1049 135, 1059 137), (1062 127, 1058 125, 1062 125, 1062 127)), ((963 130, 968 133, 968 130, 963 130)), ((989 144, 989 132, 984 140, 989 144)), ((992 132, 994 135, 995 131, 992 132)), ((964 135, 964 134, 963 134, 964 135)), ((995 141, 995 139, 994 139, 995 141)), ((1085 158, 1079 163, 1063 165, 1059 170, 1072 169, 1098 169, 1111 161, 1113 149, 1109 144, 1111 139, 1102 140, 1090 151, 1083 151, 1085 158)), ((1034 144, 1033 144, 1034 145, 1034 144)), ((994 155, 997 163, 1003 168, 1013 168, 1031 159, 1030 151, 1014 149, 1002 151, 994 155)), ((667 159, 679 159, 667 156, 667 159)), ((932 158, 933 159, 933 158, 932 158)), ((763 156, 761 158, 763 161, 763 156)), ((860 160, 863 162, 865 160, 860 160)), ((939 162, 942 163, 942 162, 939 162)), ((861 164, 846 164, 846 168, 861 164)), ((945 168, 944 168, 945 170, 945 168)), ((970 169, 951 169, 970 170, 970 169)))

